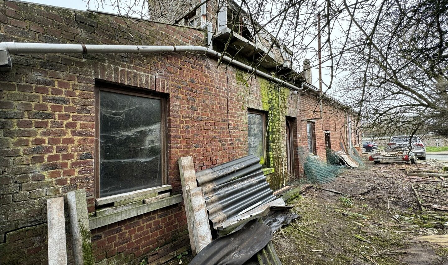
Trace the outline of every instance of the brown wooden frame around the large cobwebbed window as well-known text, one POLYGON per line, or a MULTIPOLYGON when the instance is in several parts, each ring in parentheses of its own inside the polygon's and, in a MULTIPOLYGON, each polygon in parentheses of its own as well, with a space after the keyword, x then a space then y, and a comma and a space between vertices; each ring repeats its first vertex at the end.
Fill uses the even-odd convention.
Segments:
POLYGON ((144 98, 155 98, 160 100, 160 141, 162 159, 162 185, 168 184, 168 119, 167 100, 161 95, 151 93, 151 91, 129 88, 126 86, 95 84, 95 156, 94 156, 94 189, 95 198, 99 196, 99 92, 108 91, 117 94, 133 95, 144 98))

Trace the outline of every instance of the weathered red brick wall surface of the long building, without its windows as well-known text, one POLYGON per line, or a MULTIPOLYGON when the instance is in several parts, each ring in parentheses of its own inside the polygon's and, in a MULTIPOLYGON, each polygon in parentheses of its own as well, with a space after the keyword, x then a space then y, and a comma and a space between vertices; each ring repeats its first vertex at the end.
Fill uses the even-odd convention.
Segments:
MULTIPOLYGON (((151 21, 0 0, 0 42, 200 45, 202 31, 151 21)), ((267 111, 271 188, 288 180, 285 117, 294 119, 295 173, 302 173, 306 119, 315 119, 317 154, 323 130, 339 150, 345 111, 315 94, 290 94, 262 77, 248 82, 233 66, 190 53, 11 55, 0 72, 0 262, 46 264, 46 201, 85 188, 94 204, 95 85, 138 88, 167 99, 168 184, 181 191, 177 159, 193 156, 197 170, 247 155, 247 109, 267 111), (227 71, 226 71, 227 69, 227 71), (315 111, 313 111, 315 110, 315 111), (286 177, 285 177, 286 175, 286 177)), ((354 139, 355 141, 355 139, 354 139)), ((357 142, 355 142, 357 144, 357 142)), ((67 209, 67 208, 66 208, 67 209)), ((67 213, 67 211, 66 211, 67 213)), ((68 219, 67 219, 68 223, 68 219)), ((67 224, 69 235, 69 225, 67 224)), ((138 263, 155 248, 185 239, 183 203, 91 231, 101 264, 138 263)), ((70 237, 69 262, 73 261, 70 237)))

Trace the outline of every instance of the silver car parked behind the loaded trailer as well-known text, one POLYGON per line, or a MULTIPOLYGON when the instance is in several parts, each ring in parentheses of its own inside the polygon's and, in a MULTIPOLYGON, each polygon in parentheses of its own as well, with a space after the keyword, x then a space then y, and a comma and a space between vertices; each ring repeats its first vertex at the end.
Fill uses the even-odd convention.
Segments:
POLYGON ((422 138, 414 135, 410 136, 394 136, 386 147, 386 151, 405 150, 413 152, 420 160, 426 160, 426 146, 422 138))

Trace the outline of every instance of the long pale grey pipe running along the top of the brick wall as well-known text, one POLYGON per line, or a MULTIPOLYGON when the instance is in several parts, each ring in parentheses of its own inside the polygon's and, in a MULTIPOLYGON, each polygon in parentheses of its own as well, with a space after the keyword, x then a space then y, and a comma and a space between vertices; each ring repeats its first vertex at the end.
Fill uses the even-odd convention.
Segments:
MULTIPOLYGON (((17 53, 159 53, 159 52, 199 52, 204 55, 221 57, 220 52, 214 51, 207 47, 183 45, 183 46, 144 46, 144 45, 92 45, 92 44, 53 44, 53 43, 0 43, 0 66, 6 65, 11 67, 9 54, 17 53)), ((297 87, 291 83, 285 82, 277 77, 273 77, 268 73, 264 73, 240 61, 234 60, 228 56, 222 57, 224 61, 237 67, 246 69, 259 76, 266 77, 271 81, 275 81, 280 85, 284 85, 289 89, 300 91, 301 87, 297 87)), ((302 83, 304 84, 304 83, 302 83)), ((309 86, 308 84, 303 87, 309 86)))

